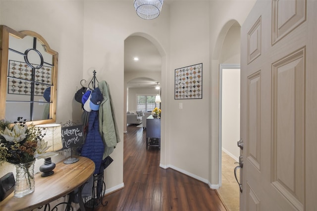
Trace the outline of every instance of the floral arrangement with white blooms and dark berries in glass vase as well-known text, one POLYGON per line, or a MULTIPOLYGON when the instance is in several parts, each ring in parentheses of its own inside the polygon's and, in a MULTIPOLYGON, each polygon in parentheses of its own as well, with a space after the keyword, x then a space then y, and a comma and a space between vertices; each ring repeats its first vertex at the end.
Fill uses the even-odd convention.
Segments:
POLYGON ((0 121, 0 165, 4 162, 24 164, 35 159, 52 157, 57 153, 45 151, 49 149, 44 141, 45 133, 31 124, 29 127, 18 117, 14 125, 8 121, 0 121))

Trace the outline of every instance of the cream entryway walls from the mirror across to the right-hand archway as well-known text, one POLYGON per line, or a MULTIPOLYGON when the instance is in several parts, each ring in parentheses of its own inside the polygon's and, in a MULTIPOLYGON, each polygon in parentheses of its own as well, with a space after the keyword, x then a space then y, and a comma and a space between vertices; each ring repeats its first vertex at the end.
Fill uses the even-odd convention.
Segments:
POLYGON ((96 70, 98 80, 109 84, 122 141, 106 169, 108 192, 123 186, 124 40, 141 35, 153 42, 162 56, 160 165, 217 187, 218 51, 228 22, 241 25, 252 5, 251 0, 166 1, 159 18, 148 21, 135 14, 131 0, 1 0, 0 23, 39 33, 59 53, 57 123, 80 119, 73 95, 81 79, 89 81, 96 70), (174 70, 197 63, 203 63, 203 99, 174 100, 174 70))

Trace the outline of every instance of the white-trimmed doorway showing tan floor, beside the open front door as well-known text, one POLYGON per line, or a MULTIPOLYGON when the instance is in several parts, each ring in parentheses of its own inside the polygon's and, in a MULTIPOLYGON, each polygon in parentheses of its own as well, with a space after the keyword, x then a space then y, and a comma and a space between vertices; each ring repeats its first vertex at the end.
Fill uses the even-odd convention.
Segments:
POLYGON ((219 189, 229 211, 239 211, 239 186, 234 177, 240 150, 240 64, 219 65, 219 189))

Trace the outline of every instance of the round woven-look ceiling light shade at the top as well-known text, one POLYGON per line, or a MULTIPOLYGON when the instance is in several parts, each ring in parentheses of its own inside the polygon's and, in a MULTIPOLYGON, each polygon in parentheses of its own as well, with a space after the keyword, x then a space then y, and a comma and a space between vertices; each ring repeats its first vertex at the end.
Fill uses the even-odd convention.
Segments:
POLYGON ((146 20, 157 18, 162 9, 164 0, 134 0, 137 14, 146 20))

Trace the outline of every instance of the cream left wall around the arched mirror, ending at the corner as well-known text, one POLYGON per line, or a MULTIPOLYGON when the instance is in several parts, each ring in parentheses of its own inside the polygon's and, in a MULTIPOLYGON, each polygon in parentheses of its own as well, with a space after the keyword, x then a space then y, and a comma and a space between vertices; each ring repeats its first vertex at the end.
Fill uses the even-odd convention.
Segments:
MULTIPOLYGON (((80 104, 74 100, 83 76, 83 2, 1 0, 0 24, 16 31, 37 32, 59 53, 56 123, 80 120, 80 104), (70 27, 71 26, 71 27, 70 27)), ((53 157, 53 161, 65 156, 53 157)), ((35 170, 44 160, 36 162, 35 170)), ((0 176, 15 172, 13 165, 1 167, 0 176)))

